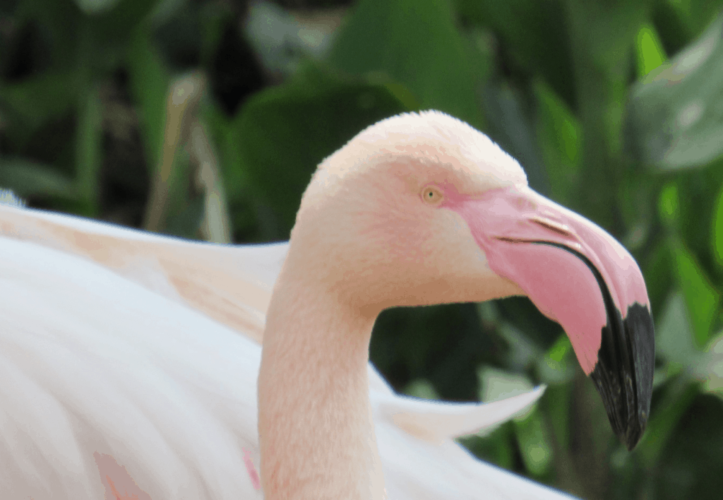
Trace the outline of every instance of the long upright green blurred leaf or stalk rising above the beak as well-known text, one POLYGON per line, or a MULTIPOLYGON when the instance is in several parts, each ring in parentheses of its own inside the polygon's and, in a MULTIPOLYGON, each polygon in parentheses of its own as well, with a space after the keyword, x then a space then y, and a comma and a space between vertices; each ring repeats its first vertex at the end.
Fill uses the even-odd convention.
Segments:
POLYGON ((623 158, 623 104, 632 43, 646 6, 636 1, 565 1, 583 128, 580 183, 571 208, 613 234, 624 231, 617 210, 623 158))

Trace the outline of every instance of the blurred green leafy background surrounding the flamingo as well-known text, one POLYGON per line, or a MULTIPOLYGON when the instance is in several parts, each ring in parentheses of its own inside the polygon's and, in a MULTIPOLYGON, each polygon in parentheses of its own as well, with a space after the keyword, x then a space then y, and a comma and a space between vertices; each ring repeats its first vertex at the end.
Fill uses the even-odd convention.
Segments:
POLYGON ((0 186, 28 205, 215 242, 285 240, 312 171, 369 124, 440 109, 640 263, 651 420, 617 441, 529 300, 389 310, 398 391, 487 401, 461 442, 584 499, 723 493, 722 0, 3 0, 0 186))

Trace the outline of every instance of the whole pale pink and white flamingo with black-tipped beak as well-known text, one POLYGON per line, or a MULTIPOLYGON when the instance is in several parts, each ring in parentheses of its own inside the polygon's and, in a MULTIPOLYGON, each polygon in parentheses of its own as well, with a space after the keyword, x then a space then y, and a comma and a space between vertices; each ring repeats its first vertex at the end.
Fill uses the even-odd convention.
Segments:
POLYGON ((570 498, 452 440, 542 389, 482 405, 393 393, 368 347, 395 305, 527 295, 629 449, 648 418, 654 331, 635 260, 438 111, 385 119, 326 158, 288 244, 4 205, 0 255, 7 498, 570 498))

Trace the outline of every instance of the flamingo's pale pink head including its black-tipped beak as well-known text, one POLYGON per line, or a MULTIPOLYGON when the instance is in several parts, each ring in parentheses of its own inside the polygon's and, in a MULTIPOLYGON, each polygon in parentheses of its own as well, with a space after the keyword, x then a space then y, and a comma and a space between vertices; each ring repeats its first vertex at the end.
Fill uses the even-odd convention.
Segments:
POLYGON ((360 310, 527 295, 560 323, 628 449, 649 415, 654 329, 636 261, 438 111, 385 119, 320 164, 288 260, 360 310), (296 248, 304 248, 303 255, 296 248))

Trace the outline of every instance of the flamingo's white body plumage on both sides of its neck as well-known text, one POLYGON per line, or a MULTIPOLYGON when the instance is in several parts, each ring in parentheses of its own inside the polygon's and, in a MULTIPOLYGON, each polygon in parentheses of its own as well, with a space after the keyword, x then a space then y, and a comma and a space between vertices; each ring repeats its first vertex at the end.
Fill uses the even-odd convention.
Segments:
MULTIPOLYGON (((0 234, 1 496, 113 498, 99 453, 140 488, 117 498, 262 498, 244 455, 258 467, 256 340, 286 246, 182 242, 7 205, 0 234)), ((452 440, 540 389, 440 404, 393 394, 371 366, 369 377, 390 499, 569 498, 452 440)))

